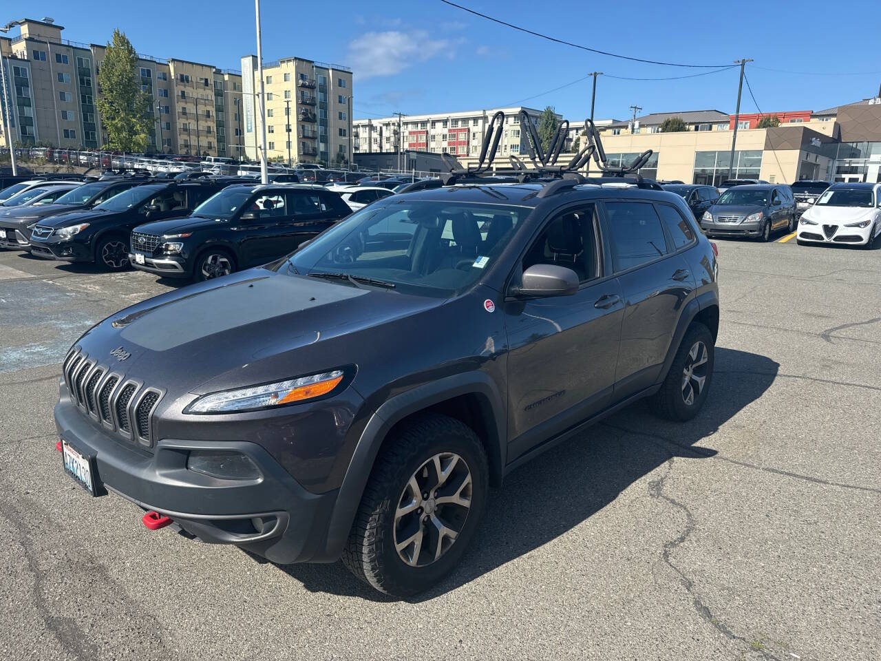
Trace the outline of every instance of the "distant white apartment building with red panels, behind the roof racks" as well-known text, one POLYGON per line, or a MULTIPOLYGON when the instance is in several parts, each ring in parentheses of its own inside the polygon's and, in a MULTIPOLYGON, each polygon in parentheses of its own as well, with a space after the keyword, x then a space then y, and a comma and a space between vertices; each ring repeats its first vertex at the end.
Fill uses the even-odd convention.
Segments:
MULTIPOLYGON (((499 142, 499 156, 518 155, 527 151, 526 134, 521 130, 520 111, 525 110, 538 123, 542 114, 536 108, 487 108, 458 113, 432 113, 361 119, 352 124, 353 149, 356 153, 447 152, 457 158, 477 158, 487 126, 497 112, 505 113, 505 124, 499 142)), ((562 115, 557 115, 562 120, 562 115)))

